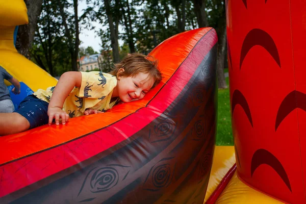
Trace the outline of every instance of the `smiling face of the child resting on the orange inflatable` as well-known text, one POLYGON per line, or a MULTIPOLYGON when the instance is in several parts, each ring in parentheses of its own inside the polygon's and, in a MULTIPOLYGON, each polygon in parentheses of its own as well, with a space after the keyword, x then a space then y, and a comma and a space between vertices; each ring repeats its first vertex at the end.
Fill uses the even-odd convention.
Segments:
POLYGON ((123 102, 142 99, 154 84, 154 79, 143 72, 134 77, 118 77, 117 80, 117 94, 123 102))

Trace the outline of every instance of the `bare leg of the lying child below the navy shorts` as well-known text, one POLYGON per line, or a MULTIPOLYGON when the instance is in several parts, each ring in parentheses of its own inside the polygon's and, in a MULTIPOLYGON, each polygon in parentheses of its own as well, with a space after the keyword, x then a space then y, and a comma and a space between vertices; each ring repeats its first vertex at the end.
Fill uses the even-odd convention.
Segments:
POLYGON ((0 113, 0 136, 29 130, 30 122, 19 113, 0 113))

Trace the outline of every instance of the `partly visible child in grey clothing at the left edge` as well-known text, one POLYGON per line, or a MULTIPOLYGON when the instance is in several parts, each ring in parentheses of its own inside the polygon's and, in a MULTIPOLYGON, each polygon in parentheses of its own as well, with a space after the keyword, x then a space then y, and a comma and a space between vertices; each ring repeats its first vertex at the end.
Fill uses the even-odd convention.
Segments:
POLYGON ((4 84, 4 80, 8 80, 14 88, 14 94, 20 93, 20 84, 18 80, 12 77, 2 66, 0 66, 0 113, 12 113, 14 111, 14 104, 11 100, 8 87, 4 84))

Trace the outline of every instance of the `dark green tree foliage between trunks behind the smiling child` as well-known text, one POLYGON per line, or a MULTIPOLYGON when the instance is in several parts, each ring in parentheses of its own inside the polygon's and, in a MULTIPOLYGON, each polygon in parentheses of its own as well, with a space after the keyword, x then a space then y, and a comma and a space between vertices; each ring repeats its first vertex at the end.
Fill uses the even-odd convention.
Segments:
MULTIPOLYGON (((131 50, 148 54, 163 40, 185 30, 198 28, 194 12, 195 0, 108 0, 117 37, 123 45, 119 57, 122 59, 131 50), (183 17, 185 13, 185 18, 183 17), (185 19, 185 23, 184 23, 185 19), (180 25, 181 23, 181 25, 180 25), (183 24, 182 24, 183 23, 183 24), (181 27, 180 27, 181 26, 181 27)), ((60 0, 72 40, 75 39, 75 25, 72 1, 60 0)), ((225 20, 224 1, 206 0, 209 25, 218 29, 225 20)), ((85 29, 95 29, 92 21, 99 22, 103 29, 97 30, 100 50, 103 55, 101 66, 110 70, 113 66, 111 35, 106 15, 105 1, 86 0, 87 8, 79 18, 85 29)), ((71 56, 68 39, 65 37, 63 20, 58 1, 43 0, 42 12, 38 19, 36 35, 31 48, 32 60, 52 75, 71 70, 71 56)), ((80 47, 79 55, 96 54, 92 47, 80 47)))

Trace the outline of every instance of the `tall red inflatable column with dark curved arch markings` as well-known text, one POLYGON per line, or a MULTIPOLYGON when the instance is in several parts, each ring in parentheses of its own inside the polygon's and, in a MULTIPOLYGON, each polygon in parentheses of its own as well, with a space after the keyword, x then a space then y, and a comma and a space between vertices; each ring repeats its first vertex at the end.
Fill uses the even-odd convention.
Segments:
POLYGON ((279 200, 306 203, 306 2, 226 3, 238 176, 279 200))

